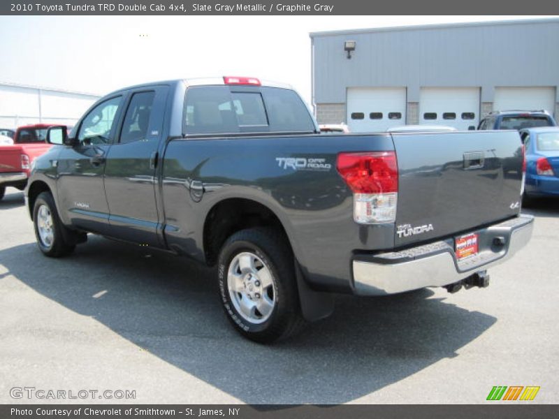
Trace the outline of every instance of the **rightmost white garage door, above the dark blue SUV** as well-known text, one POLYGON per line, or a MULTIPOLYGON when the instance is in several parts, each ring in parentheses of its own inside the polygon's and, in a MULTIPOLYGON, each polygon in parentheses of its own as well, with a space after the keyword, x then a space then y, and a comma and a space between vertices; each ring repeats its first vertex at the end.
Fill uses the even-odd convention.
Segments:
POLYGON ((554 87, 495 87, 493 110, 542 110, 553 115, 554 87))

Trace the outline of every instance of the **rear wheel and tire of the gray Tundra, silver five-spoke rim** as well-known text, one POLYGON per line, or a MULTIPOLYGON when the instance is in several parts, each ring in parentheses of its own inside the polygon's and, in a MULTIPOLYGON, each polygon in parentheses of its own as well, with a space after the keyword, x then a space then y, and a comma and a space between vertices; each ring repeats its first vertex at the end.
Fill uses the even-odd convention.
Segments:
POLYGON ((249 228, 229 237, 219 253, 218 281, 228 320, 248 339, 285 339, 305 323, 293 253, 275 230, 249 228))

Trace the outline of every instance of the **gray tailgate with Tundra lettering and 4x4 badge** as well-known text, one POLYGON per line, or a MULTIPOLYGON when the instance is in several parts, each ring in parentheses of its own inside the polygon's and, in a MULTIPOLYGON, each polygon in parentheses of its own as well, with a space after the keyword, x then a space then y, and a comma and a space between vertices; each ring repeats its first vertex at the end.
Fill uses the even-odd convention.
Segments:
POLYGON ((395 247, 467 233, 520 211, 518 132, 392 137, 399 172, 395 247))

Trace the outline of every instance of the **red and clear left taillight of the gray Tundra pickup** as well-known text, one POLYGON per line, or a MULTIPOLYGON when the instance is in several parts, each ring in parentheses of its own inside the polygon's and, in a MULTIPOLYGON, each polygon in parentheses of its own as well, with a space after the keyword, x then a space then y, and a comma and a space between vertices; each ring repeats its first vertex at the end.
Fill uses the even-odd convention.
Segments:
POLYGON ((398 201, 395 152, 340 153, 336 168, 354 192, 354 220, 357 223, 395 221, 398 201))

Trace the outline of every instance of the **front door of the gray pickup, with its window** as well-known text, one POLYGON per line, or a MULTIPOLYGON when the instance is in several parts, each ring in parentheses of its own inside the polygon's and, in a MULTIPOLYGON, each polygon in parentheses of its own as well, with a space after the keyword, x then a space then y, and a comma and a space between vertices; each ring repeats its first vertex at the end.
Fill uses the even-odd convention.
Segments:
POLYGON ((64 147, 57 161, 59 210, 74 226, 95 233, 109 229, 103 171, 122 102, 122 95, 112 96, 89 110, 80 121, 78 143, 64 147))

